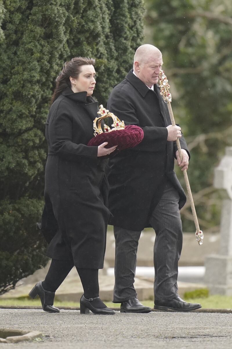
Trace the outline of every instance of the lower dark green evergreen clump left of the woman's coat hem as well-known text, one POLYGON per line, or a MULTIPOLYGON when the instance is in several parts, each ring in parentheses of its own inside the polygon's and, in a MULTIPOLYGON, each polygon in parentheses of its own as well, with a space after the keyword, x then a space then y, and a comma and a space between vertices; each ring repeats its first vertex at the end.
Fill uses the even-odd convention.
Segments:
POLYGON ((44 239, 34 224, 42 206, 43 202, 37 199, 1 201, 0 295, 47 262, 44 239))

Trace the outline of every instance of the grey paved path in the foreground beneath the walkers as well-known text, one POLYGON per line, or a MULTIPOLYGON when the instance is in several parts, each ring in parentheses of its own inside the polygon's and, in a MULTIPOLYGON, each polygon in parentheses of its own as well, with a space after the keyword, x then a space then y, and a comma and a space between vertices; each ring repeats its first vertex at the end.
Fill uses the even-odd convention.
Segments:
POLYGON ((232 314, 166 313, 81 315, 75 310, 0 309, 0 327, 41 331, 41 341, 0 349, 231 348, 232 314))

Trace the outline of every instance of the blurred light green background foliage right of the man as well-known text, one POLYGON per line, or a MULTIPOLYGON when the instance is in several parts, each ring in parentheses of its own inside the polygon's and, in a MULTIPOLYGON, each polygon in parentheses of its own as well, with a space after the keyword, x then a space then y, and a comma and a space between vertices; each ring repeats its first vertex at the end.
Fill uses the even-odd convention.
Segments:
MULTIPOLYGON (((163 53, 174 117, 190 146, 188 174, 199 223, 218 230, 221 201, 211 186, 213 169, 232 139, 232 3, 147 0, 146 5, 146 32, 163 53)), ((181 171, 178 178, 185 188, 181 171)), ((195 230, 190 205, 182 216, 183 229, 195 230)))

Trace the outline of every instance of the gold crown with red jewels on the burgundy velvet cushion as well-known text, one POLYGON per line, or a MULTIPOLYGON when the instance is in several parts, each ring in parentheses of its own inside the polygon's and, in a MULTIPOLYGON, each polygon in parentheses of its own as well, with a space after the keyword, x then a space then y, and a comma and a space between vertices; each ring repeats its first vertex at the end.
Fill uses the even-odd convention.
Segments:
POLYGON ((100 105, 100 109, 97 112, 98 114, 100 114, 101 116, 99 118, 95 118, 94 119, 94 136, 96 136, 97 134, 101 134, 103 132, 111 132, 111 131, 115 131, 115 130, 122 130, 125 128, 125 124, 124 121, 120 121, 119 118, 117 116, 115 116, 113 113, 109 113, 109 110, 103 108, 103 105, 100 105), (104 124, 103 128, 104 131, 102 130, 102 126, 101 126, 101 121, 105 118, 112 118, 113 119, 113 124, 111 125, 112 128, 110 128, 110 126, 107 126, 106 124, 104 124))

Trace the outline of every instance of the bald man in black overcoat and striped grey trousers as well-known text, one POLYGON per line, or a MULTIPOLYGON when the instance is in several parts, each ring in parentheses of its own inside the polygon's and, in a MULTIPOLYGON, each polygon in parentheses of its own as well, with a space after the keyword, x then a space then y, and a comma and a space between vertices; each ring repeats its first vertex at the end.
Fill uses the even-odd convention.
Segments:
POLYGON ((107 109, 126 125, 143 128, 144 139, 110 160, 109 208, 115 236, 114 303, 121 312, 150 312, 137 299, 134 288, 136 252, 141 231, 155 230, 154 308, 189 311, 200 304, 185 303, 178 295, 178 260, 182 249, 179 209, 185 193, 173 170, 174 157, 188 168, 189 151, 179 126, 172 126, 158 83, 162 54, 152 45, 135 52, 133 70, 110 94, 107 109), (179 158, 176 139, 182 148, 179 158))

